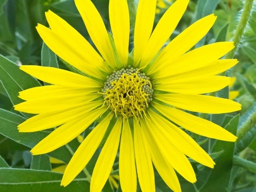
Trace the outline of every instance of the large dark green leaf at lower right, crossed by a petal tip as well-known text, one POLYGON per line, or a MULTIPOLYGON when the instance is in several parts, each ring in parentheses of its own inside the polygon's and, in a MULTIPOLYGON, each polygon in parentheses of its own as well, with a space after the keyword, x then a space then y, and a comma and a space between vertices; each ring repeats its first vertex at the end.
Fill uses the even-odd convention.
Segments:
MULTIPOLYGON (((230 122, 225 126, 225 129, 236 135, 236 130, 239 122, 239 114, 234 116, 230 122)), ((217 140, 212 148, 212 151, 221 151, 222 153, 216 160, 214 169, 206 168, 210 174, 202 174, 200 178, 206 178, 204 185, 200 187, 200 192, 209 192, 213 188, 215 191, 226 191, 230 181, 230 174, 232 168, 232 161, 234 156, 235 142, 226 142, 217 140)), ((202 184, 202 182, 200 183, 202 184)))

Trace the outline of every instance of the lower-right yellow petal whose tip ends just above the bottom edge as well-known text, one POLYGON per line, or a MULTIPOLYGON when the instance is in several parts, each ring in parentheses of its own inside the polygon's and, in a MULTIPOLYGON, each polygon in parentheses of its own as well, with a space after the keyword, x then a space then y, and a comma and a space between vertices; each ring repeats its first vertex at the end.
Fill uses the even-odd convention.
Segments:
MULTIPOLYGON (((143 124, 143 121, 142 121, 143 124)), ((151 136, 150 140, 156 143, 163 158, 166 160, 168 166, 173 167, 181 176, 191 183, 196 182, 196 174, 184 153, 172 143, 172 138, 168 137, 168 133, 154 123, 154 119, 146 119, 148 132, 151 136), (157 128, 157 129, 156 129, 157 128)), ((168 127, 169 128, 169 127, 168 127)))

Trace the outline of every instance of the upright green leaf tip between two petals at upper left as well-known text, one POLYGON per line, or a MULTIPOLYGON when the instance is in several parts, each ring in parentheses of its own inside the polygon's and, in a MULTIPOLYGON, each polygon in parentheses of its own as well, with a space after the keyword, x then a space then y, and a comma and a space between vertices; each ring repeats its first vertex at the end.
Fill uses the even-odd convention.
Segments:
MULTIPOLYGON (((52 52, 52 50, 50 50, 45 43, 42 45, 41 65, 46 67, 59 68, 56 54, 52 52)), ((49 84, 44 82, 44 85, 49 84)))

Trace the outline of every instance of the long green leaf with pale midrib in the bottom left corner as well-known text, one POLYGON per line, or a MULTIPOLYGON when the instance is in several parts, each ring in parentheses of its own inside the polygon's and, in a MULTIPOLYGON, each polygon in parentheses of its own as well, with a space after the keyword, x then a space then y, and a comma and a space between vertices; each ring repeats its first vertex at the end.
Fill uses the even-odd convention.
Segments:
POLYGON ((65 188, 60 186, 62 174, 43 170, 0 168, 0 191, 10 192, 75 192, 90 191, 85 178, 74 179, 65 188))

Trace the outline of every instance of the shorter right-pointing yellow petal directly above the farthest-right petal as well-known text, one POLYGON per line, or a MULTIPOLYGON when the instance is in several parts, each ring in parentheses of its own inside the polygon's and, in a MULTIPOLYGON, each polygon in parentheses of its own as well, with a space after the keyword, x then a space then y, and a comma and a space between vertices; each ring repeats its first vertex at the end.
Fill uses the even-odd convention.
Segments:
POLYGON ((204 94, 218 91, 230 83, 230 78, 225 76, 194 77, 181 80, 158 81, 162 84, 154 86, 157 90, 184 93, 184 94, 204 94))

